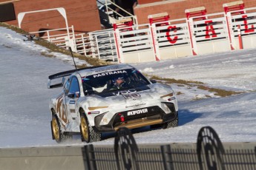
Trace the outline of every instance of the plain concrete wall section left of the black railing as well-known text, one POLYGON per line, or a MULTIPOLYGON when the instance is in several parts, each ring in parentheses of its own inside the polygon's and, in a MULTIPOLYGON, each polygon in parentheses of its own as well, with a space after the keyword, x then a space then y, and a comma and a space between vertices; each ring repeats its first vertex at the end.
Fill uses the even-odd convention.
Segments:
POLYGON ((86 169, 82 147, 0 149, 0 169, 86 169))

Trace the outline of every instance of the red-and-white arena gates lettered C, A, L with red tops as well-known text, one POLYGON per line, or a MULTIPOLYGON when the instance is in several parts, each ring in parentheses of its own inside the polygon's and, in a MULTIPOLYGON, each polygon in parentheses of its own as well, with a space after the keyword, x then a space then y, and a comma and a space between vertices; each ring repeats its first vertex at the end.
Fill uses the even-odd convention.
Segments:
POLYGON ((189 9, 187 18, 177 20, 167 20, 167 13, 151 15, 150 24, 116 29, 120 58, 158 61, 256 47, 256 8, 244 9, 240 1, 223 7, 213 14, 204 7, 189 9))

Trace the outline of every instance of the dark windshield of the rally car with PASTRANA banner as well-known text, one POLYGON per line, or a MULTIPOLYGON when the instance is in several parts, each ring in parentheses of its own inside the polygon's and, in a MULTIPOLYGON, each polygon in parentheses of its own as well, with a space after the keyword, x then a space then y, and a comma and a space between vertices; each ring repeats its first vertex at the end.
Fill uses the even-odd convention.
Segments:
POLYGON ((150 84, 137 69, 100 72, 82 78, 85 95, 133 89, 150 84))

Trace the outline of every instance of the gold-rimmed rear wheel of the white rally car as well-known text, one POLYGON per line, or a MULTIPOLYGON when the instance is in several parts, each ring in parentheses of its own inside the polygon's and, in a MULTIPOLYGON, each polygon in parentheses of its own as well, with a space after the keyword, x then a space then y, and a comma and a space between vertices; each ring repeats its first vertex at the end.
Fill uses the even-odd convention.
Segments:
POLYGON ((62 132, 59 124, 59 118, 56 115, 53 115, 53 118, 50 121, 50 124, 52 129, 53 140, 55 139, 57 143, 62 143, 65 140, 72 137, 71 135, 67 135, 64 132, 62 132))

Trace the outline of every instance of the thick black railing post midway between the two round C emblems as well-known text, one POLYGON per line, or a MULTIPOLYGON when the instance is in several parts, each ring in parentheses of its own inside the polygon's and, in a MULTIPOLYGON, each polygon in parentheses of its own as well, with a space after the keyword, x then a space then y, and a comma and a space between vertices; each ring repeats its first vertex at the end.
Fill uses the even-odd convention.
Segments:
POLYGON ((161 152, 163 156, 163 166, 165 167, 165 170, 174 169, 174 165, 172 163, 172 158, 171 158, 171 146, 170 145, 161 146, 161 152))

